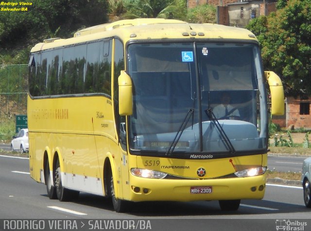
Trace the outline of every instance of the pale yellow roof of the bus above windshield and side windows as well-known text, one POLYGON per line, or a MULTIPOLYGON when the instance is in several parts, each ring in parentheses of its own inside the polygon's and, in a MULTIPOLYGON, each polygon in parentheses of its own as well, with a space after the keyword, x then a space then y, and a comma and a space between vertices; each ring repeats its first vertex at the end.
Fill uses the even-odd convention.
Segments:
POLYGON ((174 19, 137 18, 120 20, 80 30, 72 38, 45 39, 31 50, 36 52, 96 39, 119 37, 126 43, 140 39, 246 39, 257 41, 256 36, 242 28, 218 24, 194 24, 174 19))

